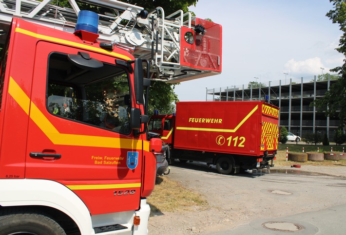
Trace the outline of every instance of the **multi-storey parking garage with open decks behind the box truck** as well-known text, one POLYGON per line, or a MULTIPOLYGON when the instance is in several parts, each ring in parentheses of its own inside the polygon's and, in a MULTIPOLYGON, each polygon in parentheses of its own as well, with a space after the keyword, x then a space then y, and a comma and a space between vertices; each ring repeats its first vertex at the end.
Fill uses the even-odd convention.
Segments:
POLYGON ((241 86, 207 88, 206 101, 267 101, 280 108, 280 126, 286 127, 288 132, 301 138, 308 133, 324 136, 327 132, 329 140, 332 140, 340 123, 338 113, 326 117, 324 112, 310 106, 312 101, 323 97, 329 87, 337 81, 338 76, 326 75, 325 79, 313 76, 269 81, 268 84, 252 82, 241 86))

